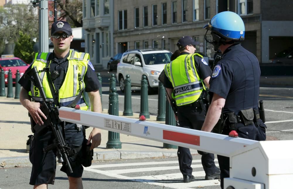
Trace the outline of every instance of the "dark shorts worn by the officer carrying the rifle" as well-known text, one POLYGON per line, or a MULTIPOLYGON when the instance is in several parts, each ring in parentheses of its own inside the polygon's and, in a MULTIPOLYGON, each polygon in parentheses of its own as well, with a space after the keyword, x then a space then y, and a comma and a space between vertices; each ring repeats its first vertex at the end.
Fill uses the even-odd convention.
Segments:
MULTIPOLYGON (((81 146, 84 140, 84 134, 81 131, 76 130, 74 123, 68 123, 65 126, 66 143, 68 147, 77 148, 81 146)), ((30 176, 30 185, 40 184, 54 184, 55 172, 56 172, 56 149, 43 151, 44 147, 53 143, 54 134, 51 127, 45 127, 38 134, 35 133, 34 140, 30 147, 30 162, 32 163, 32 173, 30 176)), ((82 176, 84 168, 81 164, 73 163, 76 160, 73 157, 68 157, 73 173, 69 173, 67 167, 63 165, 61 171, 67 174, 67 176, 79 178, 82 176)))

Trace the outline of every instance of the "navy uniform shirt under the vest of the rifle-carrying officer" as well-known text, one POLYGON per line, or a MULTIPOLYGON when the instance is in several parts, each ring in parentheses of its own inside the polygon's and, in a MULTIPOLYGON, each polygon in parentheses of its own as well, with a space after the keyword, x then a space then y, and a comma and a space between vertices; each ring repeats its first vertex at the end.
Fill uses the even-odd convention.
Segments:
MULTIPOLYGON (((70 52, 64 58, 57 58, 54 55, 54 52, 50 55, 49 59, 51 59, 50 64, 50 73, 54 70, 59 72, 59 76, 53 81, 54 87, 56 90, 59 90, 60 86, 63 84, 65 75, 68 68, 68 59, 70 52)), ((31 69, 29 67, 28 69, 31 69)), ((21 77, 18 83, 27 91, 30 91, 31 81, 21 77)), ((99 89, 101 87, 100 82, 95 74, 95 71, 88 65, 88 69, 84 75, 84 83, 86 84, 85 91, 91 92, 99 89)))

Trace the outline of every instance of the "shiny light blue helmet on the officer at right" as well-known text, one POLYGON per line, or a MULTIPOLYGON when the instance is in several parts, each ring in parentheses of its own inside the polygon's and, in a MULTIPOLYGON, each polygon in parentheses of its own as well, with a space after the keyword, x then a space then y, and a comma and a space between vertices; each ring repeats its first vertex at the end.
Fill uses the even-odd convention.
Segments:
POLYGON ((242 41, 244 40, 245 27, 242 18, 231 11, 224 11, 216 14, 204 29, 224 39, 242 41))

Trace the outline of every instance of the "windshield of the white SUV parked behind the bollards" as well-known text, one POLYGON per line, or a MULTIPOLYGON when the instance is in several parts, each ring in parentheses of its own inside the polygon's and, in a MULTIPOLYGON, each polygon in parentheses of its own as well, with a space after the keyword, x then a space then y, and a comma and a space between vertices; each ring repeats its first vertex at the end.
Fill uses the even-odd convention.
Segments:
POLYGON ((144 63, 146 65, 151 64, 167 64, 171 58, 171 52, 161 52, 161 53, 152 53, 152 54, 144 54, 144 63))

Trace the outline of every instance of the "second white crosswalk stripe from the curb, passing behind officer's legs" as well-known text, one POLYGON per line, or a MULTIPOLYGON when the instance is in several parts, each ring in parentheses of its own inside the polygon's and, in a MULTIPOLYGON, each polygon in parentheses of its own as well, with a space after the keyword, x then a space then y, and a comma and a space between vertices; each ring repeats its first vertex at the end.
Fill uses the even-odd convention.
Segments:
MULTIPOLYGON (((219 164, 216 164, 219 166, 219 164)), ((202 164, 192 165, 193 168, 202 167, 202 164)), ((124 174, 124 173, 134 173, 134 172, 146 172, 146 171, 160 171, 160 170, 170 170, 179 169, 179 166, 166 166, 166 167, 145 167, 145 168, 134 168, 134 169, 116 169, 108 170, 110 173, 124 174)))

